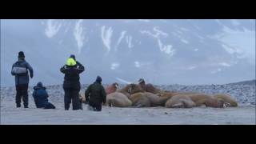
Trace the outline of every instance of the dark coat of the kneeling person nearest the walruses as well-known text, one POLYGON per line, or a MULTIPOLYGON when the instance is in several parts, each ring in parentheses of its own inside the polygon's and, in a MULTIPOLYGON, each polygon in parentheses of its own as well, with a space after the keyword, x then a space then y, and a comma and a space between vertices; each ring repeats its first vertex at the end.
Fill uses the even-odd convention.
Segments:
POLYGON ((102 104, 106 102, 106 91, 100 82, 91 84, 85 93, 86 101, 102 104))

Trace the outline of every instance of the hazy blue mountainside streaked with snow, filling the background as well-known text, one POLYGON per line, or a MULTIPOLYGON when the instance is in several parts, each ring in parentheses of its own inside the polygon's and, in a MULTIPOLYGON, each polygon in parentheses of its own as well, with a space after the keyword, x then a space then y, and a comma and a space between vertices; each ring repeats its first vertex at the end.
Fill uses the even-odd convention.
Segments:
POLYGON ((75 54, 81 83, 223 84, 255 78, 255 20, 1 20, 1 85, 23 50, 31 85, 61 84, 75 54))

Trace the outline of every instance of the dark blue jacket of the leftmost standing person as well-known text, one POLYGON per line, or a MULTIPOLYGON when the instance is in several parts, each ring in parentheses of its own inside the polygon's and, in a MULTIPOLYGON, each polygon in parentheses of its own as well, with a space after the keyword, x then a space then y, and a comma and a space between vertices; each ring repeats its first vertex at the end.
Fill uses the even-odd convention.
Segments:
POLYGON ((12 66, 11 74, 15 76, 15 85, 26 85, 29 83, 30 78, 28 74, 30 71, 30 78, 33 78, 33 68, 28 62, 24 59, 19 59, 18 62, 15 62, 12 66), (20 71, 23 71, 22 74, 19 74, 20 71))

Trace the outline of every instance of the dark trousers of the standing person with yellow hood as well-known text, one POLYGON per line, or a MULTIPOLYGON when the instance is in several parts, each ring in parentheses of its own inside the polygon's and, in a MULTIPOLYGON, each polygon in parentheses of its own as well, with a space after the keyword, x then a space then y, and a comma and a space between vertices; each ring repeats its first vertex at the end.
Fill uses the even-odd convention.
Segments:
POLYGON ((64 103, 65 103, 65 110, 70 109, 70 103, 72 100, 73 110, 81 109, 81 102, 79 100, 79 91, 80 87, 64 87, 65 96, 64 96, 64 103))

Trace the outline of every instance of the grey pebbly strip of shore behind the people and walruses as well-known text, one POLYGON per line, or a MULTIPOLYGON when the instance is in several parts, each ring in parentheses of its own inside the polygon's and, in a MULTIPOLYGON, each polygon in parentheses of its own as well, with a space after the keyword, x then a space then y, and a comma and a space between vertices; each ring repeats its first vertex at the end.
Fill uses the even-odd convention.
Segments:
MULTIPOLYGON (((81 91, 86 90, 88 84, 83 84, 81 91)), ((107 86, 107 85, 103 85, 107 86)), ((120 88, 125 85, 120 85, 120 88)), ((226 85, 162 85, 156 86, 162 90, 171 90, 178 92, 200 92, 204 94, 230 94, 232 97, 237 99, 239 104, 242 105, 255 105, 255 85, 254 84, 226 84, 226 85)), ((53 102, 62 102, 64 90, 62 89, 62 85, 55 86, 46 86, 48 93, 50 94, 50 101, 53 102)), ((32 95, 33 87, 30 86, 29 94, 32 95)), ((1 101, 3 99, 12 100, 16 94, 15 87, 2 87, 1 89, 1 101)))

